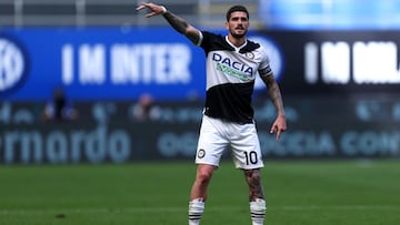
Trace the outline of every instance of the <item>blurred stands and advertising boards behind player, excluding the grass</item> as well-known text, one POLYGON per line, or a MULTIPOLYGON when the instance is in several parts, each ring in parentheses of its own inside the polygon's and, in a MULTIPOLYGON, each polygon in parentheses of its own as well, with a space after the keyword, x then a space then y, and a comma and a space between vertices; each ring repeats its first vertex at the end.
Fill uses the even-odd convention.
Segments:
MULTIPOLYGON (((139 3, 0 0, 0 163, 192 158, 203 53, 162 18, 136 12, 139 3), (54 90, 70 106, 63 121, 46 110, 54 90)), ((268 134, 274 114, 258 81, 266 160, 399 157, 400 1, 161 3, 221 33, 229 6, 248 7, 249 35, 270 52, 289 125, 280 143, 268 134)))

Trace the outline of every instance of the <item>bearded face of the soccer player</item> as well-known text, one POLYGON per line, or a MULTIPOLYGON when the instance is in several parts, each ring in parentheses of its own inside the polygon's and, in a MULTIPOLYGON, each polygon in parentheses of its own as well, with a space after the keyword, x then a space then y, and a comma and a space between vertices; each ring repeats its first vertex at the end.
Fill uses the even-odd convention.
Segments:
POLYGON ((230 16, 229 21, 226 23, 230 35, 236 39, 244 38, 249 29, 249 19, 246 12, 236 11, 230 16))

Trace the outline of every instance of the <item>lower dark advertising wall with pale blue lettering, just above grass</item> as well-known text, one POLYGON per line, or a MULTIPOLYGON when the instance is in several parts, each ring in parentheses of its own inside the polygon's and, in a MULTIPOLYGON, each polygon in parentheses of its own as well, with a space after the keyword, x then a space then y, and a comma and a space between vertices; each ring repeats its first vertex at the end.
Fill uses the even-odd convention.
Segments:
MULTIPOLYGON (((160 102, 148 120, 137 103, 80 103, 74 121, 41 121, 41 104, 0 104, 1 164, 128 163, 193 160, 202 102, 160 102)), ((288 132, 269 133, 273 105, 256 101, 266 160, 392 158, 400 156, 396 98, 286 98, 288 132)), ((229 152, 224 155, 229 158, 229 152)))

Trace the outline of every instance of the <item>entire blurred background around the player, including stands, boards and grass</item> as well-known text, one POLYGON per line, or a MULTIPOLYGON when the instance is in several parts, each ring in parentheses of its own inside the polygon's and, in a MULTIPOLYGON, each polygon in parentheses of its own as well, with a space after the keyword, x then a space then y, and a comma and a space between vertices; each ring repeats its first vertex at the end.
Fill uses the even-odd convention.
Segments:
MULTIPOLYGON (((139 2, 0 0, 0 224, 187 223, 204 55, 139 2)), ((257 81, 266 224, 400 224, 399 0, 154 2, 220 33, 248 7, 289 126, 257 81)), ((224 158, 203 223, 249 224, 224 158)))

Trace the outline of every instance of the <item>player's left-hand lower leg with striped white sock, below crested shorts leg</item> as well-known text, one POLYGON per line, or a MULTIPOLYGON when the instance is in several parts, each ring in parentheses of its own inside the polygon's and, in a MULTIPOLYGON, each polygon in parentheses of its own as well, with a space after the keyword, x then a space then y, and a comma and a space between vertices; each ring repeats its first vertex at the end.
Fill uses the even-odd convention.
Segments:
POLYGON ((196 174, 196 181, 190 192, 189 202, 189 225, 199 225, 202 213, 204 212, 204 202, 207 200, 207 188, 210 184, 214 166, 199 164, 196 174))

